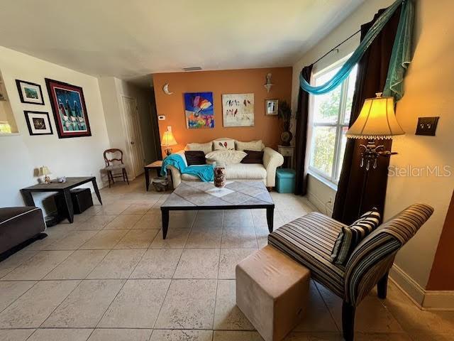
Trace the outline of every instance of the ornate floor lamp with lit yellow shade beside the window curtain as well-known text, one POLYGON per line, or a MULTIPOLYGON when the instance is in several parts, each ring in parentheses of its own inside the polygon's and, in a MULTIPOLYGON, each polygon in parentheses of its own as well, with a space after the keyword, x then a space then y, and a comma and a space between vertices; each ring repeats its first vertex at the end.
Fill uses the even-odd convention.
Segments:
POLYGON ((348 139, 367 139, 367 144, 360 145, 360 167, 365 168, 365 176, 362 180, 358 217, 362 214, 369 172, 377 168, 380 156, 389 157, 396 154, 386 151, 383 145, 377 146, 375 140, 393 139, 394 136, 405 134, 394 113, 394 97, 382 97, 382 92, 376 95, 375 98, 365 99, 358 118, 345 133, 348 139))

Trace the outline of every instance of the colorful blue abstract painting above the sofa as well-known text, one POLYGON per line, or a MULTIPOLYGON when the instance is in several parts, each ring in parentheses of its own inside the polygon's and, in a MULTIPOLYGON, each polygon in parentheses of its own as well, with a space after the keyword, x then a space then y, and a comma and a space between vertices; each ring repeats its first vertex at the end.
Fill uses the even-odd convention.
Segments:
POLYGON ((213 92, 186 92, 184 114, 187 129, 214 128, 213 92))

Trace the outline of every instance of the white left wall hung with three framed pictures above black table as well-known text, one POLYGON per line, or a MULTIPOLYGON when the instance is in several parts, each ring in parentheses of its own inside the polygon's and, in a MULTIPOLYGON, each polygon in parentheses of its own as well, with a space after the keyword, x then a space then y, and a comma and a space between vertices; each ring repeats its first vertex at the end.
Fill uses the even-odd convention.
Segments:
MULTIPOLYGON (((96 77, 3 47, 0 47, 0 70, 19 129, 16 136, 0 136, 0 207, 22 206, 19 190, 37 183, 33 169, 43 165, 50 168, 52 176, 94 175, 102 187, 99 170, 104 168, 102 152, 109 148, 109 139, 96 77), (92 136, 58 138, 45 77, 83 88, 92 136), (41 85, 45 105, 21 103, 16 79, 41 85), (48 112, 54 134, 28 134, 24 110, 48 112)), ((35 203, 42 206, 41 199, 48 195, 35 195, 35 203)))

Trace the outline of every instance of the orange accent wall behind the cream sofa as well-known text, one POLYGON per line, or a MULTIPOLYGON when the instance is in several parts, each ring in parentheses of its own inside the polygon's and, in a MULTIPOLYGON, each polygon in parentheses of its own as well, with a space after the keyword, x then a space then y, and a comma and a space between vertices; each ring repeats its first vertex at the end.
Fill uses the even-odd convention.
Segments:
POLYGON ((261 139, 266 146, 277 148, 282 133, 282 123, 277 117, 265 116, 265 99, 286 100, 292 97, 292 67, 273 67, 266 69, 219 70, 199 72, 172 72, 153 75, 157 115, 165 115, 158 121, 160 137, 172 126, 178 142, 173 146, 178 151, 189 142, 204 143, 221 137, 240 141, 261 139), (272 73, 274 86, 267 93, 263 85, 266 75, 272 73), (168 95, 162 91, 169 83, 168 95), (213 92, 214 129, 187 129, 184 117, 184 92, 213 92), (254 94, 254 126, 223 127, 222 94, 254 94))

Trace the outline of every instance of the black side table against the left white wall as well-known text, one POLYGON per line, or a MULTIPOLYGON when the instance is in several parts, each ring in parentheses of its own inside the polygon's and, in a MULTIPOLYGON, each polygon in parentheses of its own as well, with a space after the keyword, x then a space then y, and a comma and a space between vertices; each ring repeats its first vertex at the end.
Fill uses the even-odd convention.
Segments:
POLYGON ((65 205, 68 213, 68 220, 70 223, 74 221, 74 208, 72 207, 72 199, 70 190, 74 187, 83 185, 84 183, 91 182, 93 184, 94 193, 98 197, 99 203, 102 205, 101 194, 99 193, 98 185, 96 184, 96 178, 94 176, 82 176, 74 178, 66 178, 66 183, 59 183, 57 180, 52 180, 50 183, 38 183, 30 187, 22 188, 21 194, 23 201, 27 206, 35 206, 35 201, 33 200, 33 192, 58 192, 62 194, 62 197, 65 199, 65 205))

